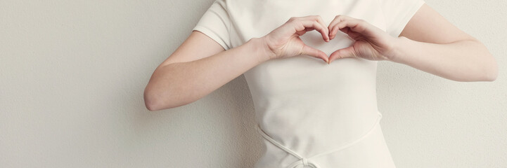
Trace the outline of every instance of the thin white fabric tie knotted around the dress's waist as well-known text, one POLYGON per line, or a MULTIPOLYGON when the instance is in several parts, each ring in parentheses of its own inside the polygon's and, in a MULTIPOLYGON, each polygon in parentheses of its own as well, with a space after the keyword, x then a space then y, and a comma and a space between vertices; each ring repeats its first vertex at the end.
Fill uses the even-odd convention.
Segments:
POLYGON ((345 144, 343 146, 339 146, 337 148, 330 149, 329 151, 325 151, 323 153, 319 153, 319 154, 313 155, 313 156, 311 156, 309 158, 303 158, 301 155, 295 153, 294 151, 290 150, 289 148, 287 148, 287 147, 283 146, 282 144, 278 143, 278 141, 275 141, 274 139, 272 139, 271 137, 269 137, 269 135, 266 134, 266 132, 264 132, 264 130, 262 130, 262 128, 259 126, 259 124, 256 125, 255 130, 257 130, 262 135, 262 137, 264 137, 264 139, 267 139, 269 142, 271 142, 271 144, 274 144, 275 146, 277 146, 281 150, 283 150, 283 151, 285 151, 287 153, 290 153, 290 155, 293 155, 297 159, 299 159, 296 162, 293 162, 292 164, 290 164, 287 168, 300 168, 300 167, 321 168, 318 164, 316 164, 315 162, 312 162, 310 159, 319 157, 321 155, 328 155, 329 153, 334 153, 334 152, 342 151, 343 149, 348 148, 349 146, 357 144, 359 141, 361 141, 361 140, 365 139, 366 137, 368 137, 368 135, 371 134, 371 132, 373 132, 373 130, 375 130, 375 128, 377 127, 377 125, 380 124, 380 119, 382 119, 382 113, 378 112, 378 118, 377 118, 376 122, 373 124, 373 126, 371 127, 371 129, 368 130, 368 132, 366 132, 365 134, 363 134, 361 137, 359 137, 359 139, 351 141, 348 144, 345 144))

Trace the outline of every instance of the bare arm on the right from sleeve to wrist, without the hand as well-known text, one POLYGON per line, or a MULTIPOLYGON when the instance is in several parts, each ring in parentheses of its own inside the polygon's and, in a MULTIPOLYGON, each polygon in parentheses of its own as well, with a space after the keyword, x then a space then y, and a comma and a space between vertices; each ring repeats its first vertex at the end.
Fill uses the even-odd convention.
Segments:
POLYGON ((392 62, 456 81, 493 81, 496 60, 486 46, 424 4, 397 40, 392 62))

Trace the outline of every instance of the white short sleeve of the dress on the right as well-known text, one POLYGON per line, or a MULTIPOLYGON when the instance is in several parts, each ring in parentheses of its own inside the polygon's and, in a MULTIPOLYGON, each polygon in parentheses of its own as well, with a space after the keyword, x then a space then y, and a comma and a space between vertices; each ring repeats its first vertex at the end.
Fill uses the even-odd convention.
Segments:
POLYGON ((397 37, 402 33, 417 10, 423 6, 423 0, 378 0, 383 10, 387 34, 397 37))

